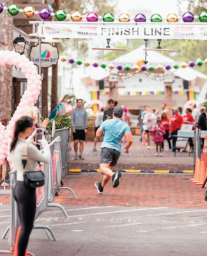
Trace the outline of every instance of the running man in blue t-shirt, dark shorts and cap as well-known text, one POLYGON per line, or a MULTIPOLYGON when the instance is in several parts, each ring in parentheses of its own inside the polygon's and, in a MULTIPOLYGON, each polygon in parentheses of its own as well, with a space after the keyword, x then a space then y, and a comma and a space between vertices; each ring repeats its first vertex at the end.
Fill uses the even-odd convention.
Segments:
POLYGON ((96 137, 100 137, 104 132, 104 141, 102 142, 100 154, 100 172, 104 177, 102 182, 95 182, 95 187, 99 194, 103 193, 105 185, 111 179, 113 188, 119 185, 121 172, 113 173, 112 170, 118 162, 121 152, 121 139, 124 135, 127 138, 125 153, 128 154, 128 150, 132 145, 132 133, 128 124, 121 121, 122 115, 123 109, 121 107, 114 108, 113 118, 105 120, 96 132, 96 137))

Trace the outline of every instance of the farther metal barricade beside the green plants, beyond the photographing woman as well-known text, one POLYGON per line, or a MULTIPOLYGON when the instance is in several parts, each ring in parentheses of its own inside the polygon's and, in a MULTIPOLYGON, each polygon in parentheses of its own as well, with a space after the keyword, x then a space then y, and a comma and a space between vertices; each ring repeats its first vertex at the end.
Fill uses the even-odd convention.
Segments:
POLYGON ((57 129, 54 134, 54 139, 57 136, 61 137, 61 162, 62 162, 62 177, 65 177, 68 174, 68 136, 69 136, 69 128, 57 129))

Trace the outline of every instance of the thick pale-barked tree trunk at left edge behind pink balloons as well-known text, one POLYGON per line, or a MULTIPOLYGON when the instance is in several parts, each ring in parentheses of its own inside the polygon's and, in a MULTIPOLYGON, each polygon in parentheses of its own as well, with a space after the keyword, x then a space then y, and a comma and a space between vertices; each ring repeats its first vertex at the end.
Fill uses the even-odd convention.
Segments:
MULTIPOLYGON (((4 6, 9 6, 13 1, 4 1, 4 6)), ((4 11, 0 15, 0 50, 12 51, 13 48, 13 17, 4 11)), ((0 66, 0 117, 2 115, 11 117, 11 86, 12 66, 0 66)))

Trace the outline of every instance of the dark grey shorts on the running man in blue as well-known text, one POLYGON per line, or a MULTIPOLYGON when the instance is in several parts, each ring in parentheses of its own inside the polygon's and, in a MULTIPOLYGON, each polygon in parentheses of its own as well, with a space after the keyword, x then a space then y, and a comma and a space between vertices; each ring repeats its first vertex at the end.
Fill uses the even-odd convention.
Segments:
POLYGON ((120 152, 114 148, 102 148, 100 154, 100 164, 110 163, 110 166, 116 166, 120 152))

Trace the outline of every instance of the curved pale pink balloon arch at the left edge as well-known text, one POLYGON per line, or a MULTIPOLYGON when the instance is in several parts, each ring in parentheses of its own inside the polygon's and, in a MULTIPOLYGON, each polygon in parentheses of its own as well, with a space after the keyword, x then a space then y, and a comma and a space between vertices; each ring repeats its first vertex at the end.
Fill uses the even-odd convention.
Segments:
POLYGON ((10 167, 14 168, 11 158, 8 154, 10 148, 10 141, 13 138, 13 132, 15 129, 15 122, 24 115, 25 109, 27 106, 34 106, 34 103, 38 99, 38 95, 41 90, 41 76, 38 75, 36 66, 32 61, 26 58, 25 55, 20 55, 15 51, 0 51, 0 65, 14 65, 17 68, 21 69, 21 72, 27 78, 27 89, 24 92, 20 100, 19 106, 15 113, 13 114, 8 126, 4 127, 0 122, 0 165, 3 164, 5 158, 7 158, 10 163, 10 167))

